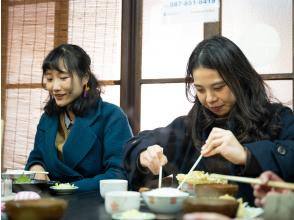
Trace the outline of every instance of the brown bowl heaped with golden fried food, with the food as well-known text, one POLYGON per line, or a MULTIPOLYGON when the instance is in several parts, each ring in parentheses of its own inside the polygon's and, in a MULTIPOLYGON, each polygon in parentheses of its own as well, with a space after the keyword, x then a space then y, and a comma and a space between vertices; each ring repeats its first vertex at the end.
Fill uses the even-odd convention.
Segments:
MULTIPOLYGON (((179 183, 185 177, 185 174, 178 174, 176 176, 179 183)), ((197 197, 218 197, 225 194, 236 196, 238 193, 237 184, 230 184, 227 180, 209 175, 204 171, 193 171, 189 174, 181 189, 197 197)))

